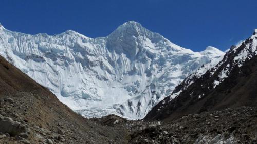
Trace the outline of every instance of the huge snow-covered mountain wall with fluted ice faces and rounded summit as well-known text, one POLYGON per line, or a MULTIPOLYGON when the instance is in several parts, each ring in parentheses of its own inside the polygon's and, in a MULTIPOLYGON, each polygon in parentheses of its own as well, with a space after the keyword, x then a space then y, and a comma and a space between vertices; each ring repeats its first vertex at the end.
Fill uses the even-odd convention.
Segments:
POLYGON ((137 22, 106 37, 12 32, 0 25, 0 55, 85 117, 141 119, 189 74, 224 53, 193 52, 137 22))

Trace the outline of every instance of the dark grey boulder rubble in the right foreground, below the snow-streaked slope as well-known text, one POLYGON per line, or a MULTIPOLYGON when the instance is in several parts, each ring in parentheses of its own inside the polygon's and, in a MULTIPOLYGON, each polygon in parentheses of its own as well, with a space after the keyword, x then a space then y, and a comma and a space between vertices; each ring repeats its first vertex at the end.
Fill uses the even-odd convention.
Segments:
POLYGON ((131 127, 130 143, 257 143, 257 109, 240 107, 185 115, 174 121, 131 127))

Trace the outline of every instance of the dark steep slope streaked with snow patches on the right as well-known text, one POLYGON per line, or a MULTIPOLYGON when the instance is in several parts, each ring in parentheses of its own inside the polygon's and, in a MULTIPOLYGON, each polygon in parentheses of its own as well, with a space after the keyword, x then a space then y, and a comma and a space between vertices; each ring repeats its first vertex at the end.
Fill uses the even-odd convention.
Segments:
POLYGON ((187 78, 174 90, 175 96, 159 102, 145 119, 171 121, 186 114, 240 106, 255 107, 256 38, 257 30, 241 44, 232 46, 224 58, 204 75, 187 78))

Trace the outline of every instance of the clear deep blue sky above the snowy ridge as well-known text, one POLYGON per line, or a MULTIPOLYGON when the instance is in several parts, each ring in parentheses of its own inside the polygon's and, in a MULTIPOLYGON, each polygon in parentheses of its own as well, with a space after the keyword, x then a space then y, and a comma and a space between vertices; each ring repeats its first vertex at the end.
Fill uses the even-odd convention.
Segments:
POLYGON ((12 31, 58 34, 68 29, 107 36, 134 20, 171 42, 201 51, 228 49, 257 28, 256 0, 94 0, 0 2, 0 22, 12 31))

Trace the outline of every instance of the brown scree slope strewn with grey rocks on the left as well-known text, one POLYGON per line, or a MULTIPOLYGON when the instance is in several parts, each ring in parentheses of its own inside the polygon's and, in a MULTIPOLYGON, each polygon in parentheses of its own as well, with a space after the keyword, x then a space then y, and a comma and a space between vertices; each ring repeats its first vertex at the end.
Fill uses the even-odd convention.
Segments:
POLYGON ((0 57, 0 143, 127 143, 125 127, 96 124, 0 57))

